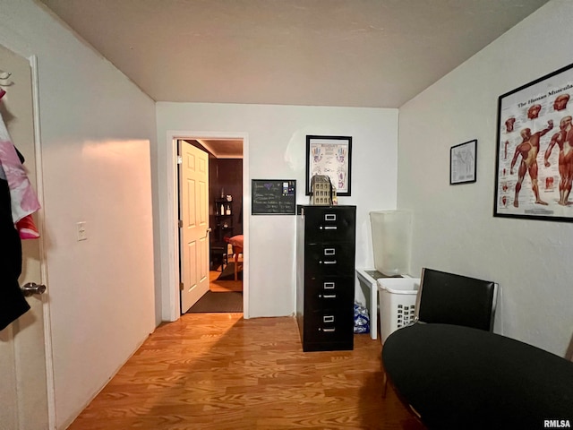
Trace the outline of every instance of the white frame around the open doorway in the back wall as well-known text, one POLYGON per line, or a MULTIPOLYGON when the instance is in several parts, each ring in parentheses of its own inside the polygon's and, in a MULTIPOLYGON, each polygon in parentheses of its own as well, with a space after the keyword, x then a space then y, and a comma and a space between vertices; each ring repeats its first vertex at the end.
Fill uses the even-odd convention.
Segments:
MULTIPOLYGON (((249 180, 249 136, 247 133, 167 131, 167 219, 165 222, 167 244, 161 247, 161 302, 168 311, 168 321, 181 317, 179 303, 179 227, 177 203, 177 140, 197 139, 242 139, 243 140, 243 213, 251 206, 251 182, 249 180)), ((243 317, 249 318, 249 216, 243 216, 243 317)), ((165 312, 163 312, 165 315, 165 312)))

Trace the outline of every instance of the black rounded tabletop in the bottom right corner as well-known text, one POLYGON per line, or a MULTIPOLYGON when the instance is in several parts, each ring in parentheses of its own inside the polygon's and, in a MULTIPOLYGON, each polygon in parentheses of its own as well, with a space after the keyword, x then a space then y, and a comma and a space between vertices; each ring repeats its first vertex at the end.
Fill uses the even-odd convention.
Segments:
POLYGON ((382 361, 429 428, 541 429, 561 419, 573 427, 573 363, 526 343, 416 323, 389 336, 382 361))

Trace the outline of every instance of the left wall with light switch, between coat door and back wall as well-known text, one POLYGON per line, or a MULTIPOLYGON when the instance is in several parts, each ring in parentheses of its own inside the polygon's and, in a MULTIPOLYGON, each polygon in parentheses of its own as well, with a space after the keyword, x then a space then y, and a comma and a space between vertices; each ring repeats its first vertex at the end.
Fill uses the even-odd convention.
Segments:
POLYGON ((155 104, 31 0, 0 0, 0 44, 38 56, 56 423, 155 327, 155 104), (88 239, 76 240, 86 221, 88 239))

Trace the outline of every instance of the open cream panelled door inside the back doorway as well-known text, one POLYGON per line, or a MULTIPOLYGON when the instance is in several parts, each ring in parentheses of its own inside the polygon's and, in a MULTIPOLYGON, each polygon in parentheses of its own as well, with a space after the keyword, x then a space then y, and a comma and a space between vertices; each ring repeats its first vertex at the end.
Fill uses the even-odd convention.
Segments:
POLYGON ((178 141, 181 313, 209 290, 209 156, 178 141))

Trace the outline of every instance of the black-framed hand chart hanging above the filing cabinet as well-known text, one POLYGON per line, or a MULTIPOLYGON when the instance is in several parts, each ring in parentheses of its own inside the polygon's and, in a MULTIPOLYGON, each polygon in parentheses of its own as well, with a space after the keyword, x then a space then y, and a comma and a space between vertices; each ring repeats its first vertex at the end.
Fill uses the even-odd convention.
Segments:
POLYGON ((314 175, 329 176, 337 195, 350 195, 352 137, 306 136, 306 195, 311 195, 314 175))

